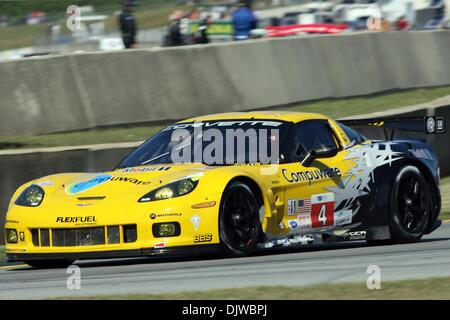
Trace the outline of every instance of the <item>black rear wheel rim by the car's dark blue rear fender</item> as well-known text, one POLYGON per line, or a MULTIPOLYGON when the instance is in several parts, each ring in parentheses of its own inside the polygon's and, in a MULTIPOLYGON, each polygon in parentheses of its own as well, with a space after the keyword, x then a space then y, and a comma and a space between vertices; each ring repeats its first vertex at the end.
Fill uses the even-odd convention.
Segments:
MULTIPOLYGON (((426 185, 413 173, 405 174, 399 181, 397 212, 401 226, 410 233, 422 228, 427 215, 428 202, 426 185)), ((420 230, 419 230, 420 231, 420 230)))

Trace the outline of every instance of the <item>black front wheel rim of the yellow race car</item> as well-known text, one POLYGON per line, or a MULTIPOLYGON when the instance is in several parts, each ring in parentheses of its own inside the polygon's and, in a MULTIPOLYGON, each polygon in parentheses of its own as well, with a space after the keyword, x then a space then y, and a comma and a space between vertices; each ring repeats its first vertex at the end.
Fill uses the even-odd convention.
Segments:
POLYGON ((223 207, 224 233, 227 242, 236 249, 254 244, 258 232, 257 207, 252 197, 242 189, 229 193, 223 207))

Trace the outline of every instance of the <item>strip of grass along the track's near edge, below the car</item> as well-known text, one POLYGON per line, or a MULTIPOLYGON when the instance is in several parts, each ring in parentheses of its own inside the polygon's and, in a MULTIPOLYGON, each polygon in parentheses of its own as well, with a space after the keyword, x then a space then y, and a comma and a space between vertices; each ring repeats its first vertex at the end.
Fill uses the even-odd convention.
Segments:
POLYGON ((365 283, 322 284, 307 287, 249 287, 171 294, 130 294, 91 296, 75 299, 151 299, 151 300, 339 300, 339 299, 450 299, 450 277, 424 280, 381 282, 380 290, 369 290, 365 283))

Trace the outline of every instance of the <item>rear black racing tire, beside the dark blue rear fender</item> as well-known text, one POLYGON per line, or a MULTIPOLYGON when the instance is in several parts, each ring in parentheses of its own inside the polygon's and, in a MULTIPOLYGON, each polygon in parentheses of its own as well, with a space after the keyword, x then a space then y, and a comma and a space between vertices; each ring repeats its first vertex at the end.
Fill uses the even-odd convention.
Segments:
POLYGON ((392 185, 390 232, 393 243, 420 240, 430 219, 430 188, 420 170, 402 167, 392 185))

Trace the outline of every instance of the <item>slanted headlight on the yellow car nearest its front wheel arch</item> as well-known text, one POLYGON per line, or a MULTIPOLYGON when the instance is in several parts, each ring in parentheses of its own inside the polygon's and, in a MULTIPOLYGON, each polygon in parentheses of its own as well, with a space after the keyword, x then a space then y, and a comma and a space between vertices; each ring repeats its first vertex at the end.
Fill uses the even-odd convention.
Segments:
POLYGON ((191 178, 169 183, 163 187, 147 193, 145 196, 139 199, 139 202, 149 202, 184 196, 185 194, 192 192, 195 187, 197 187, 198 180, 199 177, 194 176, 191 178))

